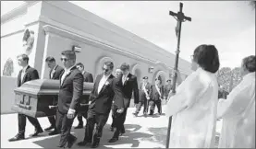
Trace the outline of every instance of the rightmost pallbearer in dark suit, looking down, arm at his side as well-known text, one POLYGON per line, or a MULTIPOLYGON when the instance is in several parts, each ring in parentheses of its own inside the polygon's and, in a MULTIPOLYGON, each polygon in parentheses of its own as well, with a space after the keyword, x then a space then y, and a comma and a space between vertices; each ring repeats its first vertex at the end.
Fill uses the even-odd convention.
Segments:
MULTIPOLYGON (((116 117, 116 132, 114 132, 114 135, 112 139, 109 140, 109 143, 114 143, 118 140, 118 137, 121 132, 122 128, 124 128, 124 123, 127 117, 127 110, 129 107, 130 103, 130 98, 132 96, 132 92, 134 95, 134 103, 138 104, 139 103, 139 89, 138 89, 138 82, 137 82, 137 77, 135 75, 131 75, 129 73, 129 64, 128 63, 122 63, 120 66, 120 69, 122 70, 122 74, 120 79, 122 82, 122 91, 124 94, 124 100, 121 101, 122 98, 116 98, 114 101, 114 104, 116 105, 116 108, 123 103, 123 109, 124 111, 119 113, 116 117), (117 104, 117 103, 121 104, 117 104)), ((119 109, 119 108, 118 108, 119 109)), ((116 109, 116 111, 118 110, 116 109)))

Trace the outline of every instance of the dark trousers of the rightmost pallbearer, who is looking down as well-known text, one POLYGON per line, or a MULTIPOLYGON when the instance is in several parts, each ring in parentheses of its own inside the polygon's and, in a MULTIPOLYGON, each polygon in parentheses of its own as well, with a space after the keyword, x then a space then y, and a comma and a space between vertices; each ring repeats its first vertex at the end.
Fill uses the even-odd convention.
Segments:
POLYGON ((124 109, 123 113, 117 113, 117 107, 116 105, 114 106, 114 112, 116 114, 116 118, 115 118, 115 122, 116 122, 116 132, 114 133, 114 137, 115 138, 118 138, 119 134, 120 134, 120 131, 124 128, 124 123, 125 123, 125 120, 127 118, 127 111, 128 109, 124 109))

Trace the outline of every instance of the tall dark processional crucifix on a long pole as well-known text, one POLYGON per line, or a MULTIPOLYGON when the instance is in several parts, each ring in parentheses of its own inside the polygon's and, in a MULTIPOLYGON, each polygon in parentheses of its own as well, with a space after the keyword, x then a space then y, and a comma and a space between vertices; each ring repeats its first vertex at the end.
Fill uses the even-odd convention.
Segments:
MULTIPOLYGON (((175 61, 175 71, 177 72, 177 63, 178 63, 178 54, 179 54, 179 44, 180 44, 180 32, 181 32, 181 24, 186 20, 191 21, 191 17, 186 17, 182 12, 183 4, 179 3, 179 12, 175 13, 170 11, 169 15, 175 17, 177 19, 177 27, 176 27, 176 35, 177 35, 177 51, 176 51, 176 61, 175 61)), ((177 82, 177 73, 173 76, 173 89, 172 93, 176 93, 176 82, 177 82)), ((170 132, 172 126, 172 117, 169 117, 168 129, 167 129, 167 138, 166 138, 166 148, 169 148, 169 141, 170 141, 170 132)))

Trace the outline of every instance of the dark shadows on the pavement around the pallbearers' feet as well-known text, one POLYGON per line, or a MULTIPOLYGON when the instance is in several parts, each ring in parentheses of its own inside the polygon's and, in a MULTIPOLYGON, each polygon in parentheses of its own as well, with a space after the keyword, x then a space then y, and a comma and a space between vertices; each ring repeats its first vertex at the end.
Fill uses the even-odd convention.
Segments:
MULTIPOLYGON (((101 139, 100 146, 98 148, 113 148, 111 146, 115 146, 118 144, 131 144, 129 147, 139 147, 140 141, 139 139, 151 138, 152 134, 137 132, 140 130, 141 126, 137 124, 125 124, 126 133, 119 137, 119 140, 116 143, 108 143, 108 140, 112 138, 113 133, 110 131, 110 125, 106 124, 104 126, 103 137, 101 139)), ((75 130, 72 129, 71 133, 78 138, 78 141, 73 145, 72 148, 90 148, 90 144, 86 146, 78 146, 77 143, 83 140, 84 137, 84 129, 75 130)), ((47 135, 47 133, 45 133, 47 135)), ((57 148, 57 144, 59 142, 60 136, 55 135, 51 138, 45 138, 40 141, 36 141, 36 143, 43 148, 57 148)))

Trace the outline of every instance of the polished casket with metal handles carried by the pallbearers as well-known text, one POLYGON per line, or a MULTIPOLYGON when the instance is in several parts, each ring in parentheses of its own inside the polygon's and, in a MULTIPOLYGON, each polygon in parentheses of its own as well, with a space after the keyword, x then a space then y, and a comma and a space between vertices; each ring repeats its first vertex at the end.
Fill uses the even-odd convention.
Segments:
MULTIPOLYGON (((89 96, 93 83, 83 84, 83 97, 78 112, 88 110, 89 96)), ((59 80, 38 79, 28 81, 15 90, 12 110, 33 118, 54 116, 59 93, 59 80)))

